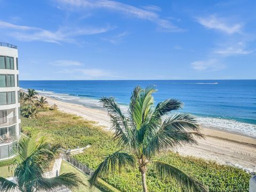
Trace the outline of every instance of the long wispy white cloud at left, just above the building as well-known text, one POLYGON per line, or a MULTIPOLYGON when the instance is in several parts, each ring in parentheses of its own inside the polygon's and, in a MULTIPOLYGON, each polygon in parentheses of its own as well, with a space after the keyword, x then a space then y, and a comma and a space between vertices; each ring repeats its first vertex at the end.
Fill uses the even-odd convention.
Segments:
POLYGON ((13 25, 12 23, 3 21, 0 21, 0 27, 13 29, 13 31, 9 31, 8 34, 19 39, 20 41, 43 41, 59 44, 61 42, 74 43, 74 37, 76 36, 100 34, 113 29, 113 27, 110 26, 102 28, 61 27, 57 31, 50 31, 37 27, 13 25))

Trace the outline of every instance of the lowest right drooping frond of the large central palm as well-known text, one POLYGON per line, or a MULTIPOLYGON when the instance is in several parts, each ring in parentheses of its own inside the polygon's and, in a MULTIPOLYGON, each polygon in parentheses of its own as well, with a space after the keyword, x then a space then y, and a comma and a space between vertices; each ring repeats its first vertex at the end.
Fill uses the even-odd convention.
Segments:
POLYGON ((189 192, 208 191, 207 188, 204 187, 204 185, 201 182, 190 177, 188 174, 179 170, 178 168, 161 161, 154 161, 154 163, 156 165, 157 172, 159 173, 159 175, 161 175, 163 179, 167 179, 167 178, 176 179, 182 185, 182 187, 186 188, 186 191, 189 191, 189 192))

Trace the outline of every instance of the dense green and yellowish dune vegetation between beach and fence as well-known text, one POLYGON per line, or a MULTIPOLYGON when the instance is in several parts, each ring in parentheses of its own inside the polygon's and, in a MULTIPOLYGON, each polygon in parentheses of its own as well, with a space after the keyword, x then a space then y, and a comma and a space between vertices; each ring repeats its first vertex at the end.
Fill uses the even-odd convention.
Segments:
MULTIPOLYGON (((103 157, 116 151, 118 146, 111 140, 108 132, 93 122, 85 121, 75 115, 61 113, 58 110, 45 109, 37 114, 36 118, 22 117, 22 131, 41 131, 51 137, 53 143, 59 143, 63 148, 76 148, 92 145, 84 154, 75 158, 95 169, 103 157)), ((202 159, 183 157, 178 154, 164 154, 157 157, 164 162, 172 162, 179 169, 189 172, 210 191, 249 191, 250 174, 235 167, 218 165, 202 159)), ((141 175, 139 171, 126 167, 121 174, 109 174, 102 179, 121 191, 141 191, 141 175)), ((174 180, 163 182, 156 177, 151 167, 147 173, 149 191, 182 191, 174 180)))

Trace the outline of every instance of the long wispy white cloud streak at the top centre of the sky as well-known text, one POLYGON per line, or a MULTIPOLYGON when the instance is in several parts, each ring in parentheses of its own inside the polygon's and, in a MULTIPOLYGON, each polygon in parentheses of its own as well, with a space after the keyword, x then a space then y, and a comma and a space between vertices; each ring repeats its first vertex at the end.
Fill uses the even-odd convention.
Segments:
POLYGON ((138 7, 131 6, 128 4, 124 4, 116 1, 108 1, 108 0, 100 0, 100 1, 56 0, 56 1, 59 3, 60 6, 65 7, 67 9, 74 9, 74 8, 106 9, 106 10, 116 11, 134 18, 155 22, 159 28, 163 29, 163 31, 167 31, 167 32, 183 31, 183 29, 177 26, 174 26, 170 21, 160 18, 159 15, 154 12, 156 11, 156 8, 157 8, 156 6, 154 6, 155 10, 153 11, 152 10, 153 6, 150 7, 151 10, 146 10, 146 9, 140 9, 138 7))

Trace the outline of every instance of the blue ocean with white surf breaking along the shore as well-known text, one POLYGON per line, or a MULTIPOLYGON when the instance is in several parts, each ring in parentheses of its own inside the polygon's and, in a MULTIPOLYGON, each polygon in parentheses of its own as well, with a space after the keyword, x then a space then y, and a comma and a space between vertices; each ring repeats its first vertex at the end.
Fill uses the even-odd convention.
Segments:
POLYGON ((20 81, 22 89, 86 107, 102 108, 99 98, 114 97, 123 110, 137 85, 154 86, 156 103, 181 100, 178 112, 197 116, 203 126, 256 138, 256 80, 20 81))

